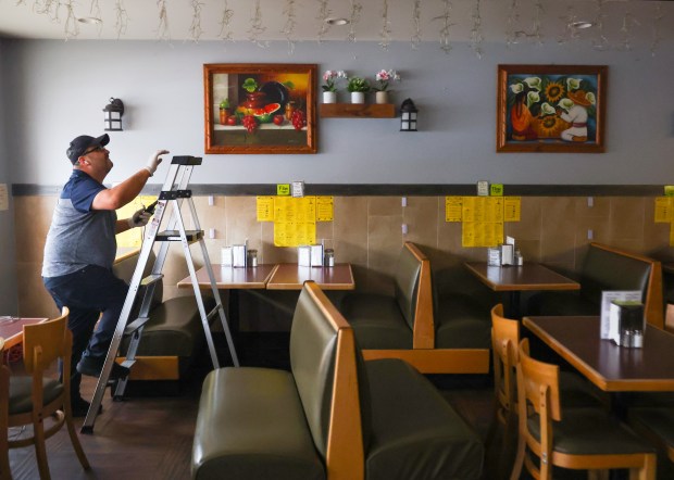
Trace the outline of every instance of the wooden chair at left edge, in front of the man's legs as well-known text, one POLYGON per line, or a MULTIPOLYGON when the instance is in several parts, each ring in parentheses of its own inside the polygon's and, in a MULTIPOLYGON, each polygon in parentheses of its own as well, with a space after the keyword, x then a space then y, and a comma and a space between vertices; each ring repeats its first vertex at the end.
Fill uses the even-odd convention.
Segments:
MULTIPOLYGON (((41 324, 24 326, 23 353, 27 376, 11 376, 5 366, 1 367, 0 390, 0 469, 2 478, 11 478, 9 449, 35 445, 40 479, 51 478, 47 463, 45 440, 57 433, 65 424, 79 463, 89 469, 89 462, 82 450, 75 433, 71 412, 70 375, 53 379, 46 375, 57 359, 61 359, 64 372, 71 371, 72 333, 67 328, 67 307, 60 317, 41 324), (45 426, 45 419, 53 417, 53 422, 45 426), (20 440, 9 440, 10 427, 33 425, 33 435, 20 440)), ((58 374, 57 374, 58 375, 58 374)))

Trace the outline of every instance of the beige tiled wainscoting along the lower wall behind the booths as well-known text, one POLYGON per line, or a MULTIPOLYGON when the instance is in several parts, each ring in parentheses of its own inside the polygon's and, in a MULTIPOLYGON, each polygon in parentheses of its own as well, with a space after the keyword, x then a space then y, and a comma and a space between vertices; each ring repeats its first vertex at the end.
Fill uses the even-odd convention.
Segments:
MULTIPOLYGON (((55 306, 41 278, 45 237, 51 220, 55 195, 14 198, 16 273, 20 315, 52 317, 55 306)), ((201 227, 215 229, 207 239, 212 262, 219 262, 220 248, 246 239, 258 249, 260 263, 294 262, 295 249, 274 247, 272 223, 257 222, 255 197, 196 197, 201 227)), ((567 271, 579 268, 586 252, 588 230, 592 241, 644 253, 662 261, 674 260, 669 245, 670 225, 653 223, 653 197, 522 197, 522 220, 506 224, 506 235, 514 237, 525 261, 544 262, 567 271)), ((432 260, 441 289, 483 288, 462 268, 466 260, 484 260, 483 248, 461 247, 461 225, 445 222, 445 197, 335 197, 334 222, 316 228, 317 238, 332 239, 337 262, 353 265, 359 290, 388 292, 389 276, 403 241, 423 248, 432 260), (401 225, 408 225, 402 235, 401 225)), ((192 247, 197 262, 201 253, 192 247)), ((164 270, 164 296, 190 294, 175 288, 187 275, 183 251, 170 249, 164 270)))

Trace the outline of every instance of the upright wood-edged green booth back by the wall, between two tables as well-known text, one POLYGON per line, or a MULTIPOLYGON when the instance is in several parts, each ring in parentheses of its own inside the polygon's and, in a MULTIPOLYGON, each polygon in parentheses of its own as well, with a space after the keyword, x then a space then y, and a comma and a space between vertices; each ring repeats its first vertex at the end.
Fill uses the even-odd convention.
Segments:
POLYGON ((430 261, 412 242, 405 242, 398 257, 395 295, 400 312, 414 331, 414 349, 433 349, 433 285, 430 261))

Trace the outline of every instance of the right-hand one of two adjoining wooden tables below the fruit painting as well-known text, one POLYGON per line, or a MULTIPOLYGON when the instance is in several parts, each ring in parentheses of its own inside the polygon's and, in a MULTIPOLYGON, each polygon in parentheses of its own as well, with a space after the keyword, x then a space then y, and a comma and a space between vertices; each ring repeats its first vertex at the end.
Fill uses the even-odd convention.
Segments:
POLYGON ((301 290, 307 280, 313 280, 322 290, 353 290, 355 281, 351 264, 334 267, 300 267, 297 264, 279 264, 266 283, 267 290, 301 290))

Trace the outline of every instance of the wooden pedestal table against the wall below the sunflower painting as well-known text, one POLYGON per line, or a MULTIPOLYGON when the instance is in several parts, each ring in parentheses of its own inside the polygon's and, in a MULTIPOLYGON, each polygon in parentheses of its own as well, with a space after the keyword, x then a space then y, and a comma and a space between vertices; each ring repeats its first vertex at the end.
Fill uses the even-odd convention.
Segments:
POLYGON ((506 312, 520 318, 520 293, 539 290, 579 290, 581 283, 537 264, 491 267, 486 262, 467 262, 465 267, 495 292, 509 292, 506 312))

